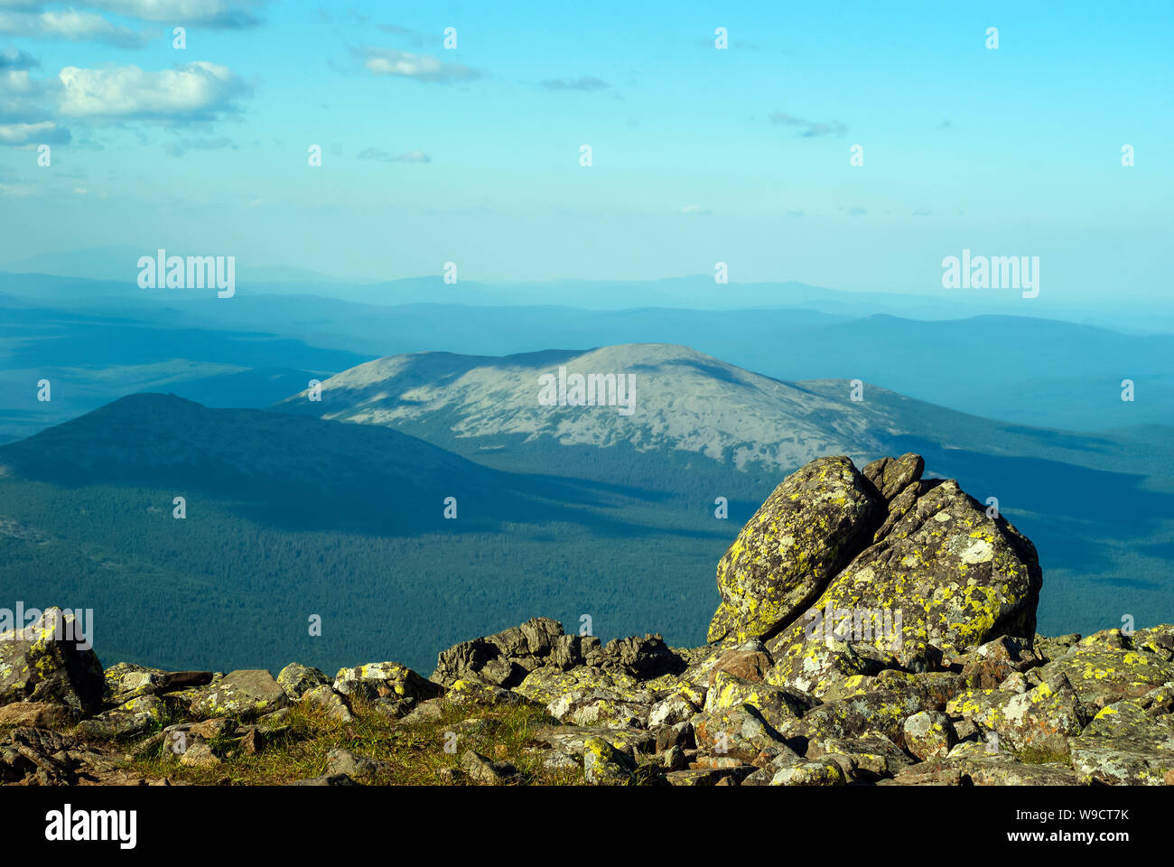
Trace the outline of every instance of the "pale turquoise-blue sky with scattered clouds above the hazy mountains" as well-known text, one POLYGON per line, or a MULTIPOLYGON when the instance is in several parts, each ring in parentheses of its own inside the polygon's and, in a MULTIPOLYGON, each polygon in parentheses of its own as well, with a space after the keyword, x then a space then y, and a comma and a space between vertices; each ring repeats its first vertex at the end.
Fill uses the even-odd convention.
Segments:
POLYGON ((1172 23, 1169 2, 0 0, 0 264, 726 261, 733 282, 940 294, 970 248, 1039 256, 1073 302, 1148 303, 1169 290, 1172 23))

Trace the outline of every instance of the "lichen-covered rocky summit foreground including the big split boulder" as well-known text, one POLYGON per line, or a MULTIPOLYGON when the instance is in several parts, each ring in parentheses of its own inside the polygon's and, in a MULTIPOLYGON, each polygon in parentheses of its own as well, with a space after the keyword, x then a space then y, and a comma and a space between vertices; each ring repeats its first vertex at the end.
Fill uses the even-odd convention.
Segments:
POLYGON ((721 558, 697 648, 534 618, 431 678, 103 671, 49 610, 0 634, 0 781, 1174 784, 1174 626, 1037 634, 1034 546, 923 469, 789 476, 721 558))

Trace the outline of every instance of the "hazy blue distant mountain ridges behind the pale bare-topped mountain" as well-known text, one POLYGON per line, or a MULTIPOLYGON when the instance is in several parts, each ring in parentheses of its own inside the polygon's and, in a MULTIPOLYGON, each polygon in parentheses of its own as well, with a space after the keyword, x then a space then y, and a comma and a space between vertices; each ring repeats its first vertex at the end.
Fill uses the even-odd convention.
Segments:
MULTIPOLYGON (((312 290, 304 283, 285 289, 312 290)), ((39 430, 38 418, 61 422, 139 390, 266 406, 298 382, 389 354, 504 356, 633 342, 689 345, 778 379, 859 378, 1032 426, 1174 424, 1170 335, 1025 316, 924 322, 869 315, 868 305, 849 317, 803 308, 389 307, 250 291, 222 301, 0 275, 0 442, 39 430), (29 377, 41 376, 59 381, 56 405, 29 405, 29 377), (1135 384, 1133 402, 1120 399, 1125 379, 1135 384)))

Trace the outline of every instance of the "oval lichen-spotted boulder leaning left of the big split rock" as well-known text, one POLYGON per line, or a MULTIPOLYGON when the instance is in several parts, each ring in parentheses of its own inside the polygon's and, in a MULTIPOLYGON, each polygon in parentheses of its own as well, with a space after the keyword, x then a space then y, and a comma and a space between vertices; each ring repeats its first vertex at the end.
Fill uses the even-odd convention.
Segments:
POLYGON ((722 601, 710 643, 771 636, 803 612, 868 543, 884 516, 876 488, 846 457, 792 472, 717 564, 722 601))

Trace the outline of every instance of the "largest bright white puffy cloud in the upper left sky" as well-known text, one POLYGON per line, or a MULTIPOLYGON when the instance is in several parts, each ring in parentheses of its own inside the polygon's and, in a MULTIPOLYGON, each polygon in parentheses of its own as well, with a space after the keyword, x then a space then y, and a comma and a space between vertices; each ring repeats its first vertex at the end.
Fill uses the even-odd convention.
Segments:
POLYGON ((61 113, 72 117, 216 120, 237 112, 234 100, 249 92, 231 69, 198 61, 147 72, 137 66, 81 69, 67 66, 61 80, 61 113))

